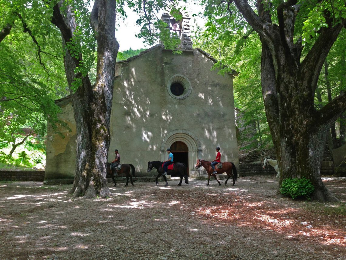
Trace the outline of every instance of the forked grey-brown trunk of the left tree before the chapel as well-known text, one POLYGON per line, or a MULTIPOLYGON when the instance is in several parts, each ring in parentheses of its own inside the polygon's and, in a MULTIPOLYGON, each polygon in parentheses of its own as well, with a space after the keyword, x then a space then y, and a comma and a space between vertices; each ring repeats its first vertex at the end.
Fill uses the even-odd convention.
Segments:
MULTIPOLYGON (((60 5, 54 7, 52 22, 60 29, 63 45, 66 45, 73 38, 76 21, 72 8, 67 6, 62 15, 60 5)), ((94 27, 98 42, 95 87, 92 88, 88 75, 82 77, 80 73, 74 73, 83 62, 81 53, 77 58, 66 49, 64 57, 77 132, 76 170, 71 193, 74 197, 84 194, 85 198, 112 196, 107 187, 106 167, 115 62, 119 49, 115 38, 116 0, 97 0, 94 5, 93 10, 97 12, 93 18, 98 21, 98 26, 94 27), (82 85, 75 92, 71 89, 74 78, 82 79, 82 85)))

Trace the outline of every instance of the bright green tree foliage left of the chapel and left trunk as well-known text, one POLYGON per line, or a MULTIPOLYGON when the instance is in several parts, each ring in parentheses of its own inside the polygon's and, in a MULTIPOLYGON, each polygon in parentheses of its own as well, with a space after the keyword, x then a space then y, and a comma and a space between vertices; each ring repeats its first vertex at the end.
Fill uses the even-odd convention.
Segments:
POLYGON ((0 147, 12 145, 10 155, 30 135, 45 133, 47 120, 55 125, 56 92, 66 93, 62 52, 54 47, 60 34, 46 30, 49 21, 35 14, 39 4, 0 0, 0 147))

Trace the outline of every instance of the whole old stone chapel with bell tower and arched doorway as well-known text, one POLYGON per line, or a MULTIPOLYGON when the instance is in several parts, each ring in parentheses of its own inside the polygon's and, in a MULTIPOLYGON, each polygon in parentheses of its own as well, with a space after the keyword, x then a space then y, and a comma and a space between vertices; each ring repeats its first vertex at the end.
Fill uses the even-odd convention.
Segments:
MULTIPOLYGON (((133 164, 137 176, 156 176, 156 170, 147 172, 148 161, 166 160, 166 149, 171 148, 174 161, 185 163, 189 176, 198 177, 204 168, 195 170, 197 159, 215 159, 219 146, 221 161, 233 162, 239 169, 233 99, 237 72, 219 75, 219 69, 212 69, 217 60, 192 48, 187 12, 176 21, 166 11, 162 20, 180 37, 182 53, 174 54, 158 44, 117 62, 108 162, 118 149, 121 162, 133 164)), ((56 104, 62 108, 60 119, 72 131, 61 138, 48 129, 45 179, 73 179, 73 108, 69 97, 56 104)))

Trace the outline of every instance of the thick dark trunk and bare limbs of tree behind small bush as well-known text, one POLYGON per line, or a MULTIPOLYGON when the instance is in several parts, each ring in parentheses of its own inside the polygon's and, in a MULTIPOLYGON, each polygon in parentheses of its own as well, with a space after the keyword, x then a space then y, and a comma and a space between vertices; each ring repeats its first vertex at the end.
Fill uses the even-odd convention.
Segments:
POLYGON ((262 94, 280 167, 280 185, 289 177, 306 177, 315 187, 313 199, 336 201, 322 183, 320 162, 327 131, 346 110, 345 93, 320 110, 314 107, 314 97, 319 73, 343 24, 322 28, 301 61, 301 39, 293 42, 297 0, 282 2, 277 7, 279 25, 271 22, 268 1, 257 1, 258 15, 247 1, 234 2, 262 41, 262 94))

